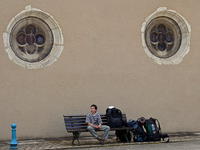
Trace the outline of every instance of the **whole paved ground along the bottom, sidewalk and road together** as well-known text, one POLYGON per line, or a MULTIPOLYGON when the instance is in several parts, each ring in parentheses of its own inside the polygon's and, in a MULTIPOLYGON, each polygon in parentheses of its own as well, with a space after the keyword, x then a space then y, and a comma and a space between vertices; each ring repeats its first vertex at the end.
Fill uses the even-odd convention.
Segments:
MULTIPOLYGON (((200 150, 200 133, 171 134, 170 143, 117 143, 115 137, 100 145, 91 137, 81 139, 81 146, 72 146, 71 137, 19 140, 18 150, 200 150)), ((0 150, 9 150, 9 141, 0 141, 0 150)))

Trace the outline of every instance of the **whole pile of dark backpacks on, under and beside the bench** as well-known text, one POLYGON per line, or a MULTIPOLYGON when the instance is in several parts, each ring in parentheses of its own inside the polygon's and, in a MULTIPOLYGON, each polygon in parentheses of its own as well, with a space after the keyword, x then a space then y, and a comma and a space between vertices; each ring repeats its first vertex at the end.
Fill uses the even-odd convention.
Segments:
POLYGON ((131 130, 116 130, 117 140, 120 142, 150 142, 166 141, 169 142, 168 134, 161 132, 160 123, 155 118, 145 119, 140 117, 137 120, 123 120, 122 112, 118 108, 109 107, 106 110, 108 126, 111 128, 129 127, 131 130))

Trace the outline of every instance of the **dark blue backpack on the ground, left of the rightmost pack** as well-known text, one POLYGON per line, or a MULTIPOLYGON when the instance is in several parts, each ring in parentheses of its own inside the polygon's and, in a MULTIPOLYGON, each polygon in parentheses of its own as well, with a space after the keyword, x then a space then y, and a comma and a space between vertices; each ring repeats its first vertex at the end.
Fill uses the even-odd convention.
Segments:
POLYGON ((147 135, 144 131, 143 125, 139 120, 129 120, 127 122, 128 127, 131 127, 131 132, 133 133, 134 142, 145 142, 147 141, 147 135))

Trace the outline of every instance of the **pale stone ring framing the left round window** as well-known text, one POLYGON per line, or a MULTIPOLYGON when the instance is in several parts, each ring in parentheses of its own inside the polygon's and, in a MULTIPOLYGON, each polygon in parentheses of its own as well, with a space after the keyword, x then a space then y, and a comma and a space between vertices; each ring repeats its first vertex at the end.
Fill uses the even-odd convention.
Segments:
POLYGON ((30 5, 26 6, 25 10, 21 11, 19 14, 11 19, 6 28, 6 32, 3 33, 3 41, 5 51, 8 53, 9 59, 27 69, 38 69, 53 64, 60 57, 64 48, 64 40, 61 28, 56 20, 53 18, 53 16, 40 9, 32 8, 30 5), (18 56, 16 56, 11 48, 10 34, 13 27, 18 21, 27 17, 37 17, 39 19, 42 19, 46 24, 48 24, 53 34, 54 42, 49 55, 38 62, 28 62, 20 59, 18 56))

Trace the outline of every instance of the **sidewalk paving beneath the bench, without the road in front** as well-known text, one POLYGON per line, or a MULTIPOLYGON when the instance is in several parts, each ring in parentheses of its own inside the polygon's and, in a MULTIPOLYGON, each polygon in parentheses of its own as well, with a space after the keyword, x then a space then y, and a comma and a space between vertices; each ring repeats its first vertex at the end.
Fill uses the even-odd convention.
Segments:
MULTIPOLYGON (((187 132, 187 133, 171 133, 170 143, 178 142, 194 142, 200 141, 200 132, 187 132)), ((18 140, 18 150, 64 150, 64 149, 81 149, 81 148, 100 148, 107 149, 108 147, 115 146, 130 146, 130 145, 147 145, 147 144, 159 144, 162 142, 144 142, 144 143, 117 143, 115 137, 112 136, 105 145, 100 145, 96 140, 91 137, 82 137, 80 139, 81 146, 72 146, 71 137, 66 138, 49 138, 49 139, 27 139, 18 140)), ((0 143, 0 150, 8 150, 9 141, 3 141, 0 143)))

